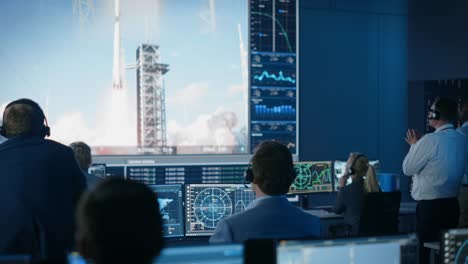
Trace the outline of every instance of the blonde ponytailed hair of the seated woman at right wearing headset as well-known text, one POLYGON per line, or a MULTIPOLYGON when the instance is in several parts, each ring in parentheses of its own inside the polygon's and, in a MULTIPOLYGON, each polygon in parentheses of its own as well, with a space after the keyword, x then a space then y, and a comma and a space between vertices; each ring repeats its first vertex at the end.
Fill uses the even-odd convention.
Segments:
POLYGON ((360 156, 357 160, 354 160, 352 168, 357 177, 366 176, 366 179, 364 180, 364 188, 366 192, 380 192, 375 168, 369 164, 369 159, 361 153, 351 153, 351 156, 353 159, 360 156))

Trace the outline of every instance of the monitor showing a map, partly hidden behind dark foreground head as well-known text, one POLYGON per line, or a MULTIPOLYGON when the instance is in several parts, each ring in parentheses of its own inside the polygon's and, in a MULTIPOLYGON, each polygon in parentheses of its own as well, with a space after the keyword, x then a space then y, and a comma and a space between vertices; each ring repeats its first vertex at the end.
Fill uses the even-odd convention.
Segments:
POLYGON ((149 185, 157 193, 164 237, 184 235, 182 185, 149 185))

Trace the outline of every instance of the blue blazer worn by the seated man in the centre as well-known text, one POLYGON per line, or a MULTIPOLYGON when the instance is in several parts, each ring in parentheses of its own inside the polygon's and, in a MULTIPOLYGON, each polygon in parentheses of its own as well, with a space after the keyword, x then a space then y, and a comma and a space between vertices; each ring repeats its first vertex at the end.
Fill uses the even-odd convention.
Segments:
POLYGON ((210 243, 242 243, 252 238, 310 238, 320 235, 319 219, 283 196, 254 200, 247 209, 219 221, 210 243))

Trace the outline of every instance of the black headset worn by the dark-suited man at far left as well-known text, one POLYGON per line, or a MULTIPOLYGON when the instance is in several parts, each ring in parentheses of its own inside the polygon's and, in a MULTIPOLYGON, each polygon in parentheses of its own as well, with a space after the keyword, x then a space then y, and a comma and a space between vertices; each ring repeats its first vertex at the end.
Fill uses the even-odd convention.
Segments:
POLYGON ((39 137, 42 137, 42 138, 50 137, 50 127, 49 127, 49 124, 47 123, 47 118, 46 118, 46 116, 44 114, 44 111, 42 111, 39 104, 37 104, 36 102, 34 102, 31 99, 26 99, 26 98, 15 100, 15 101, 9 103, 5 107, 5 110, 3 111, 2 126, 0 127, 0 135, 2 135, 3 137, 7 137, 7 131, 6 131, 6 127, 5 127, 5 112, 6 112, 6 110, 8 109, 8 107, 11 107, 13 105, 19 105, 19 104, 29 105, 33 109, 33 112, 34 112, 35 116, 33 117, 33 122, 32 122, 33 124, 31 124, 31 133, 30 133, 30 135, 39 136, 39 137), (37 127, 36 121, 41 122, 40 127, 37 127))

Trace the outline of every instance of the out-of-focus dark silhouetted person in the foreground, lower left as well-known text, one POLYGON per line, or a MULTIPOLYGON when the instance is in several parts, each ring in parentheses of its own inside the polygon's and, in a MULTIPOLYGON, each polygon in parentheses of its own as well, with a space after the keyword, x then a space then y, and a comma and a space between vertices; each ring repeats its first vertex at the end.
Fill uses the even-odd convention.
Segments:
POLYGON ((95 264, 150 264, 163 247, 156 195, 144 184, 107 179, 80 200, 78 252, 95 264))

